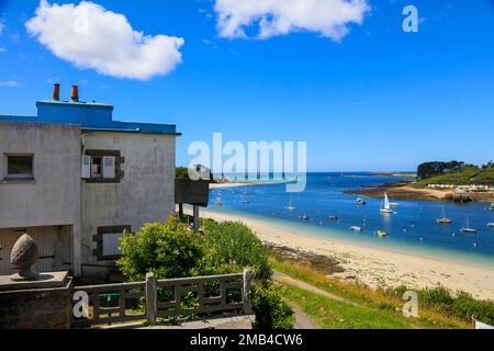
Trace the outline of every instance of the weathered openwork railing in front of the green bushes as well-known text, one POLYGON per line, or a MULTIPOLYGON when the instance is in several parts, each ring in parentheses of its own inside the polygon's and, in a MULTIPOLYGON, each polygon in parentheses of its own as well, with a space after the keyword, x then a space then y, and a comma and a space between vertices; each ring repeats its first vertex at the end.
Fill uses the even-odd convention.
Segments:
POLYGON ((156 280, 153 273, 145 282, 78 286, 74 293, 88 295, 88 318, 74 319, 74 327, 158 318, 209 315, 223 312, 250 314, 248 294, 250 272, 238 274, 156 280), (145 312, 127 314, 127 302, 145 299, 145 312))

